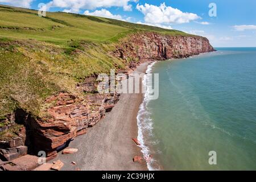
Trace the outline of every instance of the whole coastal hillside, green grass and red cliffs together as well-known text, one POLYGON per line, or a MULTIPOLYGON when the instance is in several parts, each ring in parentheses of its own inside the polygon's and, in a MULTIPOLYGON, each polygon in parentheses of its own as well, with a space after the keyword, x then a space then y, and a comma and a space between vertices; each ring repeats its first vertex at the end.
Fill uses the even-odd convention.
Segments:
MULTIPOLYGON (((177 30, 37 13, 0 6, 0 158, 1 148, 19 145, 55 155, 94 126, 118 101, 97 93, 98 73, 213 51, 206 38, 177 30)), ((18 155, 3 150, 7 160, 18 155)))

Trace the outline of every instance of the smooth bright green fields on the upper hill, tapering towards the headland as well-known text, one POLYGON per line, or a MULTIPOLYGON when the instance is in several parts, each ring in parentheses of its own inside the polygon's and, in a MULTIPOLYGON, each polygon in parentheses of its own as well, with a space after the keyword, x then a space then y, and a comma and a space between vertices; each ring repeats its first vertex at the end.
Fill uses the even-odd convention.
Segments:
POLYGON ((146 26, 95 16, 71 13, 48 13, 46 18, 39 17, 35 10, 0 6, 0 26, 42 28, 44 31, 5 30, 0 28, 0 37, 9 39, 36 39, 65 46, 68 40, 90 40, 96 42, 117 42, 129 32, 137 30, 156 31, 170 35, 188 35, 181 31, 166 30, 159 27, 146 26), (7 7, 7 8, 6 8, 7 7), (55 28, 52 30, 53 26, 55 28))

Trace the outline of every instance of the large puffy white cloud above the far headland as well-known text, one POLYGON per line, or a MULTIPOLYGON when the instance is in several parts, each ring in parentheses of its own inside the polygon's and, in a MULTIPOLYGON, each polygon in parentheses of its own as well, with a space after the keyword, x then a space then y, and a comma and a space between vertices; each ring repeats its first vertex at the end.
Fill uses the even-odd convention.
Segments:
POLYGON ((137 5, 139 11, 144 14, 146 23, 189 23, 191 20, 200 19, 200 16, 193 13, 183 13, 171 6, 166 6, 165 3, 160 6, 155 5, 137 5))

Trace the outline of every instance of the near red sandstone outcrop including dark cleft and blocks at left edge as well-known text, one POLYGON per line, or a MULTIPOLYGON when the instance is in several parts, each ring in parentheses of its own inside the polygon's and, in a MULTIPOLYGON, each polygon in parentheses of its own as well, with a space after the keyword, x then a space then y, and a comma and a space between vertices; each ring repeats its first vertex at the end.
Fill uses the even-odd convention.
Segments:
POLYGON ((51 105, 46 109, 47 117, 35 118, 25 111, 14 114, 24 127, 20 129, 19 137, 0 141, 0 156, 4 160, 13 160, 26 155, 27 147, 30 154, 44 151, 47 157, 55 156, 73 138, 96 125, 117 101, 117 94, 88 94, 84 99, 68 93, 52 96, 46 100, 46 104, 51 105))

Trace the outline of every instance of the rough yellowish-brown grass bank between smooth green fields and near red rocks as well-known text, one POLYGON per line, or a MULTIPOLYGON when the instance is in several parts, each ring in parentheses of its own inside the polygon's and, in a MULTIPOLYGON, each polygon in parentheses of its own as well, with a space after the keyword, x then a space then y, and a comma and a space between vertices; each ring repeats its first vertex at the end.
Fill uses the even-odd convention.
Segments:
POLYGON ((86 76, 125 67, 108 54, 110 46, 85 41, 67 45, 27 40, 0 47, 0 116, 17 108, 43 116, 44 100, 52 94, 79 95, 75 85, 86 76))

